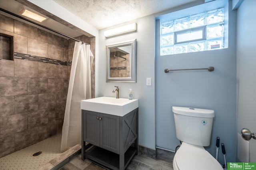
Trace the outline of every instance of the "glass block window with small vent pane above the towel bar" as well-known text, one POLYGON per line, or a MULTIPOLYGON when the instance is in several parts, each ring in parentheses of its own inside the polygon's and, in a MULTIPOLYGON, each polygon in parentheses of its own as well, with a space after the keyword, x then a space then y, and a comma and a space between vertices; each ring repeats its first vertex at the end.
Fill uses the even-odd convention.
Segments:
POLYGON ((224 8, 161 22, 161 55, 224 48, 224 8))

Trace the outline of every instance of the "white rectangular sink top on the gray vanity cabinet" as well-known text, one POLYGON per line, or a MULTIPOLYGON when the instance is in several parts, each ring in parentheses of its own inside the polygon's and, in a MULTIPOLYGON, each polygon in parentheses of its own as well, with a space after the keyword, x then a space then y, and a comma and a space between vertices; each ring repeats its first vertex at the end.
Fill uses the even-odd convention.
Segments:
POLYGON ((100 97, 81 101, 81 109, 106 113, 116 116, 124 116, 138 108, 138 99, 100 97))

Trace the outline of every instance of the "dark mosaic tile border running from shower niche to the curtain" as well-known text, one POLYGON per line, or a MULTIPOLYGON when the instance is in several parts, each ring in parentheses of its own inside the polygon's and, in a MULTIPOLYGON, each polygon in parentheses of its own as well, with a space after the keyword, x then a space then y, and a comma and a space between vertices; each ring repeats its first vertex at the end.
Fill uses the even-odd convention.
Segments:
POLYGON ((68 62, 68 61, 60 61, 60 60, 49 59, 49 58, 45 58, 45 57, 38 57, 38 56, 23 54, 23 53, 14 53, 14 59, 22 59, 22 60, 37 61, 37 62, 42 62, 42 63, 59 64, 59 65, 63 65, 63 66, 71 66, 72 65, 72 62, 68 62))

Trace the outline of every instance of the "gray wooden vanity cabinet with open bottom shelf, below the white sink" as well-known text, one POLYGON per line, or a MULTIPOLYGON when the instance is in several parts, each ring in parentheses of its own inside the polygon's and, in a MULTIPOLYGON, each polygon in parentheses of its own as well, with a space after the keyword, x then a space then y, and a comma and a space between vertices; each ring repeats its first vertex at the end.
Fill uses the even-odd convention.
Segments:
POLYGON ((82 160, 124 170, 138 154, 138 108, 124 116, 82 110, 81 152, 82 160))

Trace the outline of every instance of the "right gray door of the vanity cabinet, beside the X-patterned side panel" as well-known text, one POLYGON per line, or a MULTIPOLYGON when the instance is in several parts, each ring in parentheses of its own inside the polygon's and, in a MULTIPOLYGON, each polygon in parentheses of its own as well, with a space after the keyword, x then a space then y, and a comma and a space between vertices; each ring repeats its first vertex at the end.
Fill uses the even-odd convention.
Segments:
POLYGON ((119 116, 100 113, 100 147, 119 154, 119 116))

